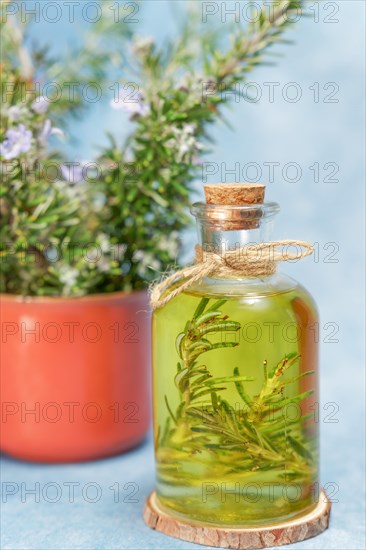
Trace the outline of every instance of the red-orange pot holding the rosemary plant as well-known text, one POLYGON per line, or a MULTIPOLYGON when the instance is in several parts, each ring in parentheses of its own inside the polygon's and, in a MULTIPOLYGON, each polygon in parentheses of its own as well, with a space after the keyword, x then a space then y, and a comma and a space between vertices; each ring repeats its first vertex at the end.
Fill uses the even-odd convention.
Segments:
POLYGON ((1 450, 68 462, 140 443, 150 417, 147 294, 0 298, 1 450))

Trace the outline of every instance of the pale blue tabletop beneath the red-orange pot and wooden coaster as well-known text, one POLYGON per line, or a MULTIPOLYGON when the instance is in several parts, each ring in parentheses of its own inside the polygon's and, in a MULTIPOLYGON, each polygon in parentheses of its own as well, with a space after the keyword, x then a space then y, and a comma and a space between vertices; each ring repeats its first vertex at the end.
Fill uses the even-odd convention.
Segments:
MULTIPOLYGON (((323 475, 323 482, 329 479, 339 486, 331 527, 315 539, 292 546, 298 550, 365 548, 362 456, 349 453, 339 424, 337 428, 334 434, 328 430, 325 446, 333 446, 333 454, 323 475)), ((144 525, 144 501, 154 487, 151 439, 124 455, 82 464, 29 464, 4 456, 1 482, 4 550, 203 548, 144 525), (78 484, 74 499, 70 499, 70 483, 78 484), (36 494, 26 494, 35 488, 36 494), (56 502, 50 502, 53 499, 56 502)))

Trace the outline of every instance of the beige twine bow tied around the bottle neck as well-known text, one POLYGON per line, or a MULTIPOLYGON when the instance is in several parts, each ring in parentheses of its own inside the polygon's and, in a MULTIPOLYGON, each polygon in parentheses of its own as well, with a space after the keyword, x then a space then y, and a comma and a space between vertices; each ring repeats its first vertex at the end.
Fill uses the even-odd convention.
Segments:
POLYGON ((304 241, 273 241, 259 245, 246 245, 235 250, 217 252, 204 251, 196 245, 196 263, 181 269, 156 283, 151 288, 152 309, 165 306, 170 300, 195 283, 212 275, 235 277, 263 277, 273 275, 278 262, 300 260, 313 253, 310 243, 304 241), (296 246, 297 252, 285 247, 296 246))

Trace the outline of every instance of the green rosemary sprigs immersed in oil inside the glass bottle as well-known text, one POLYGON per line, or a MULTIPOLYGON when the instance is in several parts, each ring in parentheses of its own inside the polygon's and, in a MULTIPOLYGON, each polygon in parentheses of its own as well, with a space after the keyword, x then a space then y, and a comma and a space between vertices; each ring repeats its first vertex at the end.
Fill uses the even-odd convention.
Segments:
MULTIPOLYGON (((271 472, 278 481, 304 481, 311 478, 314 457, 311 440, 303 437, 301 426, 307 416, 288 418, 284 411, 289 404, 299 404, 313 393, 308 390, 286 397, 286 386, 310 375, 308 371, 297 376, 284 376, 291 372, 300 356, 292 352, 268 369, 264 361, 264 381, 260 392, 252 399, 246 386, 255 379, 243 376, 235 366, 227 376, 215 377, 202 362, 202 356, 220 348, 233 348, 237 341, 213 342, 210 336, 223 332, 235 333, 240 323, 232 321, 222 312, 227 300, 202 298, 192 319, 176 338, 179 356, 174 378, 180 403, 173 412, 168 397, 165 403, 169 412, 164 430, 159 429, 157 453, 159 477, 174 483, 179 478, 192 483, 184 462, 193 457, 195 463, 207 464, 207 453, 215 455, 215 463, 225 475, 250 476, 255 472, 271 472), (234 384, 242 406, 240 410, 225 399, 225 390, 234 384), (205 454, 206 453, 206 454, 205 454)), ((311 415, 308 415, 309 417, 311 415)))

